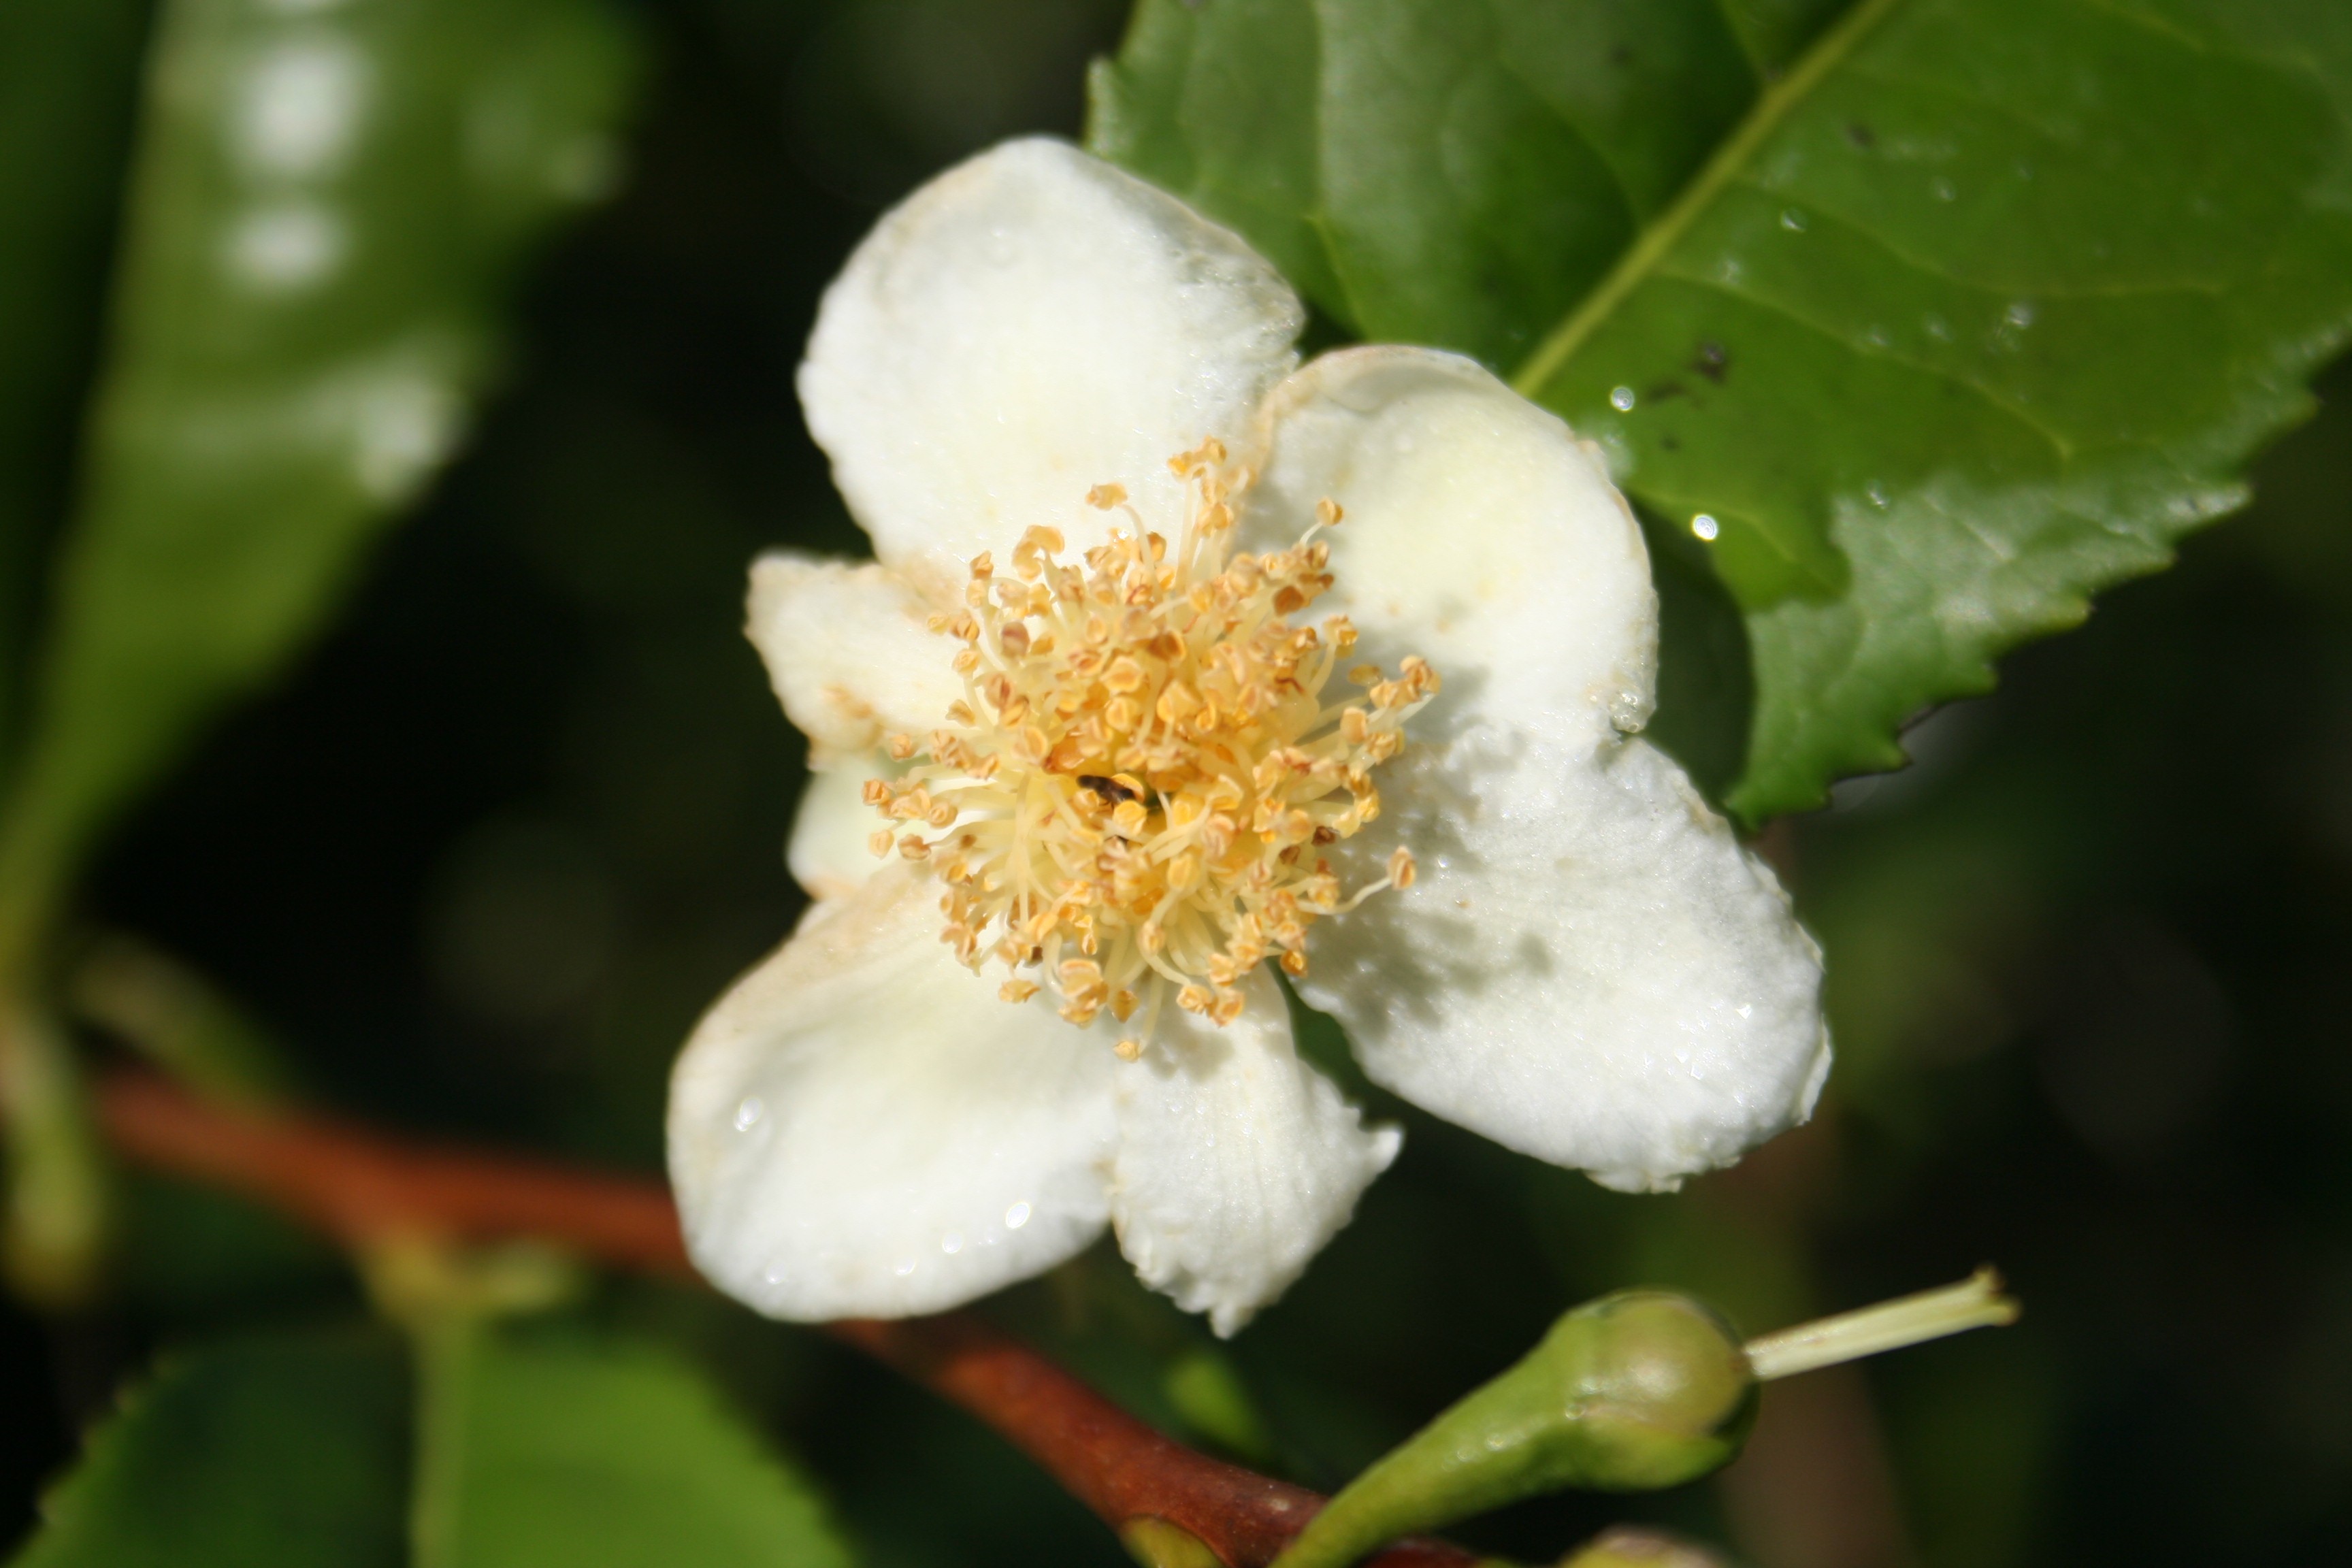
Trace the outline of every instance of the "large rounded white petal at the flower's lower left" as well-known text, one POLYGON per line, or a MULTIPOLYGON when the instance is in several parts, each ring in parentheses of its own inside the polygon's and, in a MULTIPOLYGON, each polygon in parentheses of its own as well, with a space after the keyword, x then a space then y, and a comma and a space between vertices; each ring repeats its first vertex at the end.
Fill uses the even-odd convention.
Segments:
POLYGON ((896 867, 823 905, 677 1060, 687 1248, 769 1316, 938 1312, 1061 1262, 1108 1215, 1117 1058, 957 966, 936 893, 896 867))

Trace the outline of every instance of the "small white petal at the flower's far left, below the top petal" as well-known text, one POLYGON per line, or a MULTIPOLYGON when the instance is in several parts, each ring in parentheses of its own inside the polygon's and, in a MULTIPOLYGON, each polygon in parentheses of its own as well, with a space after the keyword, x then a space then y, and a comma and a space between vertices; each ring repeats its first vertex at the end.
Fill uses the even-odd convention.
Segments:
POLYGON ((884 733, 929 733, 964 696, 957 644, 906 578, 873 562, 776 550, 750 567, 743 635, 818 764, 870 752, 884 733))

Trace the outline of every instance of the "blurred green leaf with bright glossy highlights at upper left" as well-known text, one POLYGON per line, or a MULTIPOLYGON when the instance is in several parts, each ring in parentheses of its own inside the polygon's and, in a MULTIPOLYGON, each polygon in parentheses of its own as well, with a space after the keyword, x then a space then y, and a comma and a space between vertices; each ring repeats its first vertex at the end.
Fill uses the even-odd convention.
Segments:
POLYGON ((600 0, 165 0, 0 837, 0 959, 459 442, 527 240, 609 181, 600 0))

